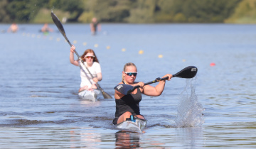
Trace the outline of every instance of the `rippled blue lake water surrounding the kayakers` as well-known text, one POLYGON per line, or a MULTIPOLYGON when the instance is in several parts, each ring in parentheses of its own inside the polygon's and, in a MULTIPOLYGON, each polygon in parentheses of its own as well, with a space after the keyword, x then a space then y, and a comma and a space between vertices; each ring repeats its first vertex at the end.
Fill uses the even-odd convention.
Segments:
POLYGON ((88 24, 64 24, 80 55, 95 50, 111 96, 127 62, 142 82, 198 67, 161 96, 143 96, 142 134, 112 126, 114 99, 78 99, 70 47, 54 24, 48 35, 42 26, 0 25, 1 148, 256 148, 256 25, 102 24, 93 36, 88 24))

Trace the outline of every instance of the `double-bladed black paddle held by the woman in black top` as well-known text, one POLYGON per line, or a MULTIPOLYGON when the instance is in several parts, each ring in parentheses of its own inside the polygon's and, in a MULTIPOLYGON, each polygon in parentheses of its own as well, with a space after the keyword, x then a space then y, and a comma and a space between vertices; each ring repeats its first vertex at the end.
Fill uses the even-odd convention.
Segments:
MULTIPOLYGON (((175 75, 173 75, 173 77, 180 77, 180 78, 193 78, 196 76, 198 69, 195 66, 188 66, 186 68, 184 68, 183 70, 177 72, 175 75)), ((148 84, 152 84, 152 83, 156 83, 165 79, 168 79, 169 77, 163 77, 163 78, 156 78, 154 81, 151 82, 147 82, 144 85, 148 85, 148 84)), ((134 91, 134 89, 139 88, 139 85, 137 86, 132 86, 132 85, 128 85, 128 84, 118 84, 116 87, 114 87, 115 90, 117 90, 118 92, 127 95, 130 94, 131 92, 134 91)))

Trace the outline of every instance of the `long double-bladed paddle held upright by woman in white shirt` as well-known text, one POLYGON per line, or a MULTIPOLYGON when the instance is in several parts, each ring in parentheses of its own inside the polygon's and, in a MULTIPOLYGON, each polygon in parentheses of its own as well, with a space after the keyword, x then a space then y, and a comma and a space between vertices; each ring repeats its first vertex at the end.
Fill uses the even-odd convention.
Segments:
MULTIPOLYGON (((60 31, 61 34, 63 34, 63 37, 65 38, 65 40, 67 40, 68 44, 70 45, 70 47, 72 46, 72 44, 70 43, 70 41, 68 40, 67 36, 65 35, 65 31, 63 28, 62 23, 60 23, 60 20, 58 19, 57 16, 55 16, 55 14, 53 12, 50 13, 50 16, 53 18, 53 22, 55 23, 55 25, 57 26, 58 30, 60 31)), ((86 67, 84 61, 82 60, 82 58, 78 55, 78 53, 75 51, 75 54, 78 56, 79 60, 82 62, 82 64, 85 66, 87 72, 89 72, 90 76, 93 78, 91 72, 89 71, 89 69, 86 67)), ((107 94, 106 92, 103 91, 103 89, 100 87, 100 84, 96 83, 97 87, 100 89, 100 91, 102 92, 102 95, 104 96, 105 99, 112 99, 112 96, 110 96, 110 94, 107 94)))

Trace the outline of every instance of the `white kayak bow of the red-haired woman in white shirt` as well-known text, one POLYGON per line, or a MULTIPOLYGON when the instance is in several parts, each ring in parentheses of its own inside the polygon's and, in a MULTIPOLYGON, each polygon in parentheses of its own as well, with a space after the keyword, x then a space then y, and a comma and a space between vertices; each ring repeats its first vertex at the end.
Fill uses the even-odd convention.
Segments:
POLYGON ((100 89, 86 89, 81 92, 78 92, 78 96, 80 99, 96 101, 96 99, 98 99, 98 97, 100 96, 100 89))

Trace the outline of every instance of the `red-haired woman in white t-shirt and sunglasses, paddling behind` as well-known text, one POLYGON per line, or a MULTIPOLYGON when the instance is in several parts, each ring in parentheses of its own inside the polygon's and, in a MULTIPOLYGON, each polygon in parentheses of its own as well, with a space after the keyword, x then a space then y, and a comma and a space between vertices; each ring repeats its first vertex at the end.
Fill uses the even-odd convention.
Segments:
POLYGON ((97 56, 95 55, 94 51, 92 49, 87 49, 81 56, 93 78, 91 77, 90 73, 87 72, 87 69, 80 62, 80 60, 74 60, 74 52, 75 46, 73 45, 70 48, 70 63, 80 67, 81 84, 78 92, 85 89, 97 89, 95 83, 102 80, 102 73, 99 60, 97 60, 97 56))

